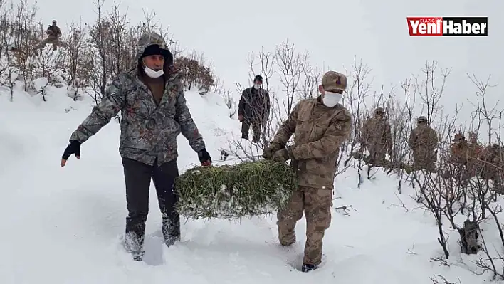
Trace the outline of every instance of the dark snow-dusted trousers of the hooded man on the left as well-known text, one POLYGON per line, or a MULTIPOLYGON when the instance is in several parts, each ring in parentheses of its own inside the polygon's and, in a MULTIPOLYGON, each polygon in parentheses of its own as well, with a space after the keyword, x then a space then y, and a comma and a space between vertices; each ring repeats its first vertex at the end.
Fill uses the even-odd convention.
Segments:
MULTIPOLYGON (((126 217, 126 236, 137 238, 135 243, 143 246, 145 222, 149 213, 150 180, 154 181, 157 201, 162 214, 162 232, 164 241, 170 245, 180 239, 180 217, 175 210, 179 200, 174 191, 174 181, 179 175, 177 159, 157 166, 137 162, 133 159, 122 159, 126 182, 126 201, 128 216, 126 217)), ((139 249, 139 248, 135 248, 139 249)))

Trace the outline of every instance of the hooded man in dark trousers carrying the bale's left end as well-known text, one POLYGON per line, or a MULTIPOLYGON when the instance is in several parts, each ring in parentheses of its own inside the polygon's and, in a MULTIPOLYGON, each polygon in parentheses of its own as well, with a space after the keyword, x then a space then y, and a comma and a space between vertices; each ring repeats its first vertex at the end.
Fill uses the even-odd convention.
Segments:
POLYGON ((80 159, 80 144, 95 135, 121 111, 119 152, 124 167, 127 210, 125 248, 135 260, 144 254, 145 221, 149 210, 151 178, 162 213, 164 241, 170 246, 180 239, 180 218, 175 211, 179 197, 174 191, 177 167, 177 136, 187 138, 201 165, 211 158, 198 127, 191 118, 182 89, 181 74, 172 53, 157 33, 138 40, 135 68, 122 73, 108 86, 105 98, 72 133, 61 166, 70 154, 80 159))

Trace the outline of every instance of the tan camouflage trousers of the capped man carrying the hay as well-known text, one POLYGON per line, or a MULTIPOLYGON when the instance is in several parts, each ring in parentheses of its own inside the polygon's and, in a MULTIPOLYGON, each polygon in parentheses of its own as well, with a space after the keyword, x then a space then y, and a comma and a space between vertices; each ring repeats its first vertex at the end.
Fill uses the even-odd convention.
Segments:
POLYGON ((278 241, 283 246, 295 243, 295 224, 306 217, 304 264, 319 265, 322 261, 322 238, 331 223, 332 190, 300 186, 287 206, 278 211, 278 241))

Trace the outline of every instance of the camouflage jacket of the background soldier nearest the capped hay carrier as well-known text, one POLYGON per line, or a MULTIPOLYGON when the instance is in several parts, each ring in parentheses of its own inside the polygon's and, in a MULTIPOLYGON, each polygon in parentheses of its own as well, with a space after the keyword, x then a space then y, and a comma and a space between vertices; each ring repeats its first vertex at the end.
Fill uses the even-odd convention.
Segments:
POLYGON ((387 145, 392 149, 392 130, 387 120, 372 117, 362 125, 362 142, 364 146, 370 144, 387 145))

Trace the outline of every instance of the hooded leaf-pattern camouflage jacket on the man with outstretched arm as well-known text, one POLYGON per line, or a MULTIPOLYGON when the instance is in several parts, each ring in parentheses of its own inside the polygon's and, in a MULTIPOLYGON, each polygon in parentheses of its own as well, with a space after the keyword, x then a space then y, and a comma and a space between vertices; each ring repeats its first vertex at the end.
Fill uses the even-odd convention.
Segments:
MULTIPOLYGON (((158 43, 155 38, 139 43, 138 58, 147 46, 158 43)), ((166 46, 164 44, 164 46, 166 46)), ((165 73, 172 67, 172 58, 165 58, 165 73)), ((70 140, 85 142, 120 111, 122 115, 119 152, 122 157, 145 164, 169 162, 178 157, 177 136, 189 140, 194 151, 205 148, 203 138, 186 105, 180 73, 165 77, 164 94, 157 105, 149 87, 139 78, 139 66, 122 73, 108 86, 105 98, 85 118, 70 140)))

